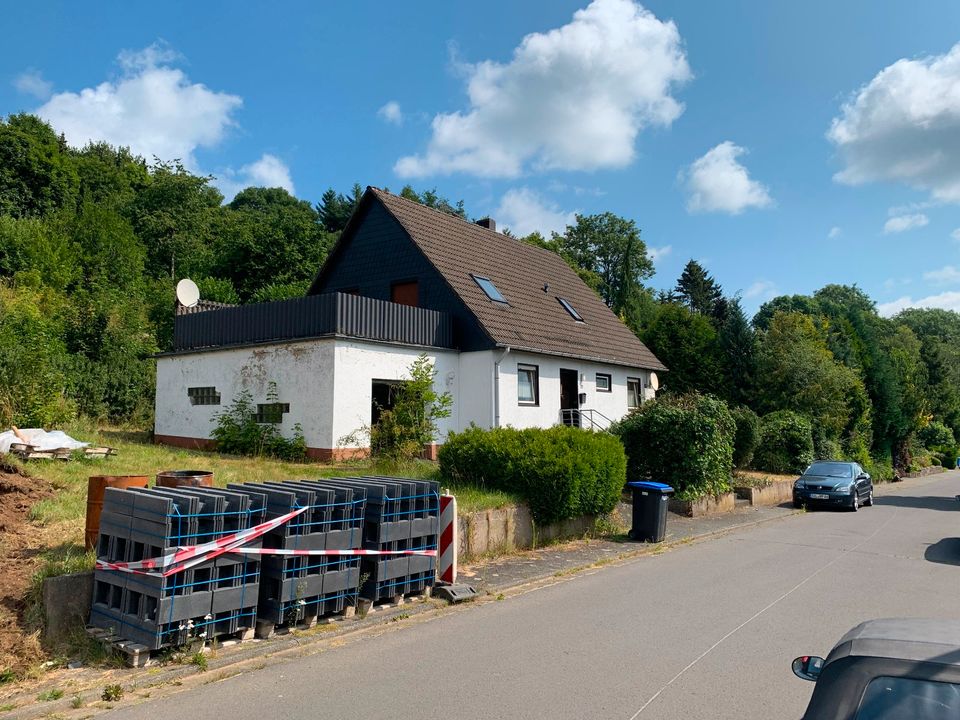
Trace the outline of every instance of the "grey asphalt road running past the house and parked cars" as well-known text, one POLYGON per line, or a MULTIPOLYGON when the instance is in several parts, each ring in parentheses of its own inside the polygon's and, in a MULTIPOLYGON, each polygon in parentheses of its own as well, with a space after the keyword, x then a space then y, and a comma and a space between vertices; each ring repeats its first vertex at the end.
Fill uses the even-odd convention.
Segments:
POLYGON ((960 615, 960 473, 397 623, 320 655, 119 710, 144 720, 796 718, 868 618, 960 615))

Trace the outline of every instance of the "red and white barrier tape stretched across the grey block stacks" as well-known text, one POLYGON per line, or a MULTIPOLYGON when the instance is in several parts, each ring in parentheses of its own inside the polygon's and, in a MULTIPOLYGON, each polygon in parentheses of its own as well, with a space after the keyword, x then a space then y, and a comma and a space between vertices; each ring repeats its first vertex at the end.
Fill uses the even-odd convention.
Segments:
MULTIPOLYGON (((442 502, 442 498, 441 498, 442 502)), ((135 562, 107 562, 97 560, 98 570, 116 570, 117 572, 134 573, 137 575, 155 575, 169 577, 194 565, 212 560, 226 553, 244 553, 252 555, 424 555, 436 557, 436 550, 291 550, 273 548, 246 548, 245 543, 256 540, 271 530, 289 522, 306 508, 294 510, 280 517, 260 523, 256 527, 241 530, 233 535, 227 535, 219 540, 213 540, 202 545, 188 545, 177 548, 176 551, 161 557, 135 562)))

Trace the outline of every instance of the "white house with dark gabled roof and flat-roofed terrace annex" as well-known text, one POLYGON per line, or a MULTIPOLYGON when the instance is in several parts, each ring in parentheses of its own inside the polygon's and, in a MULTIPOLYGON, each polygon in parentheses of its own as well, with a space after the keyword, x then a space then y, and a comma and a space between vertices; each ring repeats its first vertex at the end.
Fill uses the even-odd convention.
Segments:
POLYGON ((178 310, 155 437, 210 446, 247 390, 262 422, 300 424, 312 457, 364 454, 351 435, 421 353, 453 397, 438 442, 471 423, 602 429, 666 369, 556 254, 368 188, 306 297, 178 310))

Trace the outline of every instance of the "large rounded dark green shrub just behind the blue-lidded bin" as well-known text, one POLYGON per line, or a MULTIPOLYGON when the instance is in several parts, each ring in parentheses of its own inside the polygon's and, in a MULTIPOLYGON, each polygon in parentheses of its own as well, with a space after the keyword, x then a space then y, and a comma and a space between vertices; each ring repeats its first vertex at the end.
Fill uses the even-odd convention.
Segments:
POLYGON ((698 393, 657 398, 614 432, 626 449, 631 480, 664 482, 681 500, 730 490, 736 423, 722 400, 698 393))

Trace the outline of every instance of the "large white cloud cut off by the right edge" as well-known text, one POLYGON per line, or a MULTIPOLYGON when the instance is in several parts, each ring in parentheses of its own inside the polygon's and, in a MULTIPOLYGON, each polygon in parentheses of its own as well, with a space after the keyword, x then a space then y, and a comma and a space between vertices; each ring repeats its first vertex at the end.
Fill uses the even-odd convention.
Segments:
POLYGON ((843 105, 827 137, 845 163, 838 182, 892 180, 960 202, 960 44, 881 70, 843 105))

